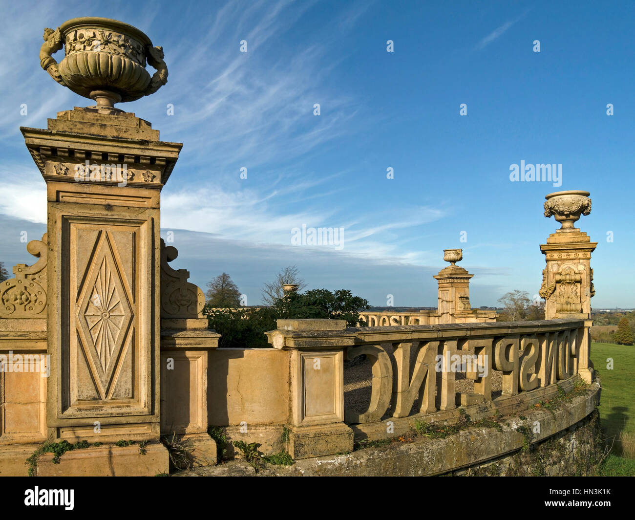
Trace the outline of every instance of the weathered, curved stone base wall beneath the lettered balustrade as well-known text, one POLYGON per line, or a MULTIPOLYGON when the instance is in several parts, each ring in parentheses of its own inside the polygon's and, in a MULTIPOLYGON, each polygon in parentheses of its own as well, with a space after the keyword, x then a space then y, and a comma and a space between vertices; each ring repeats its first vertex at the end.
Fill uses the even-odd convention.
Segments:
MULTIPOLYGON (((297 460, 288 467, 262 463, 258 475, 587 476, 594 474, 603 451, 596 407, 599 388, 599 381, 578 386, 568 397, 551 400, 557 403, 554 407, 533 406, 495 421, 464 422, 458 431, 440 438, 415 435, 404 442, 297 460), (540 434, 529 428, 535 421, 542 425, 540 434)), ((185 475, 253 474, 254 468, 244 460, 232 460, 185 475)))

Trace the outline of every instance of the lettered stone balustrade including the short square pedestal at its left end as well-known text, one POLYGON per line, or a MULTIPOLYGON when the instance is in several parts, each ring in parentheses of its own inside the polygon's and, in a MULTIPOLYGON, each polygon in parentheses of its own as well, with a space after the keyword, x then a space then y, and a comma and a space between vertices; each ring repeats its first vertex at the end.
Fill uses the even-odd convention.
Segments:
POLYGON ((350 451, 350 425, 484 404, 578 376, 590 383, 593 376, 591 320, 360 328, 341 320, 279 320, 277 327, 267 336, 274 348, 290 351, 295 458, 337 453, 333 446, 350 451), (362 354, 371 359, 372 386, 360 413, 345 407, 343 373, 344 359, 362 354), (494 371, 502 373, 496 396, 494 371), (456 390, 459 373, 474 381, 473 392, 456 390))

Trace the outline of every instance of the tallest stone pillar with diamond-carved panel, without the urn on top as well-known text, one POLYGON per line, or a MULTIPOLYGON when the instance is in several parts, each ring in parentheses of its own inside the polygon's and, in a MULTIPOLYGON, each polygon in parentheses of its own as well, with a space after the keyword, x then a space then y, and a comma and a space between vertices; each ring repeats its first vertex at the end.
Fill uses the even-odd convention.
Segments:
POLYGON ((158 441, 160 195, 182 145, 97 107, 21 130, 48 199, 48 435, 158 441))

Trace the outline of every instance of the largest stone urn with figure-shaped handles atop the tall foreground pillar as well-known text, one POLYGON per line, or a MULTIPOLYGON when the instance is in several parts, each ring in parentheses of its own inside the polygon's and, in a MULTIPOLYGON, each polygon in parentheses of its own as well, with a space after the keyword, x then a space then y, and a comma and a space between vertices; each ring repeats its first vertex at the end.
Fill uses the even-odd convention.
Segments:
POLYGON ((109 18, 73 18, 55 31, 44 29, 40 64, 60 85, 97 102, 102 113, 118 102, 150 95, 168 81, 163 48, 132 25, 109 18), (64 46, 58 64, 53 54, 64 46), (156 69, 150 78, 146 61, 156 69))

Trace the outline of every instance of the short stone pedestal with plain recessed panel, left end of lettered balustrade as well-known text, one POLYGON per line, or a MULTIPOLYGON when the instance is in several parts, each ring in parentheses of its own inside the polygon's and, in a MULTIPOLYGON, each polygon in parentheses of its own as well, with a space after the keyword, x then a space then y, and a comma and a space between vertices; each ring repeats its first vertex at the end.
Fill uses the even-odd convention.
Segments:
POLYGON ((344 423, 344 349, 354 343, 345 320, 277 320, 266 332, 274 348, 290 350, 289 455, 308 458, 353 449, 344 423))

